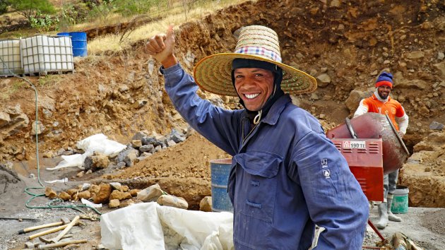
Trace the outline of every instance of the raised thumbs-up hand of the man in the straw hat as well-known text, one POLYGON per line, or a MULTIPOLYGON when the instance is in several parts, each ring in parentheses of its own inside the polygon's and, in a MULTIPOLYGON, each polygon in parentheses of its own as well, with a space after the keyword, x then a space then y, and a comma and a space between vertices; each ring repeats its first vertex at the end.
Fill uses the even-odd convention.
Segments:
POLYGON ((170 25, 167 34, 158 34, 148 40, 146 51, 159 61, 164 68, 168 68, 177 64, 176 56, 174 56, 174 45, 173 25, 170 25))

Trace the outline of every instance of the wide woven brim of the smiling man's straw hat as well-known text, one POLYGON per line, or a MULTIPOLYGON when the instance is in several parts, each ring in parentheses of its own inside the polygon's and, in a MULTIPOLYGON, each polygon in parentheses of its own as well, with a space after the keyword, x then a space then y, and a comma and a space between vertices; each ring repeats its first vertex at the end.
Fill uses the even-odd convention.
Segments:
POLYGON ((280 66, 283 69, 281 89, 285 93, 299 95, 316 90, 316 79, 303 71, 262 56, 240 53, 213 54, 198 61, 194 68, 196 84, 210 93, 238 96, 232 85, 232 61, 237 58, 268 61, 280 66))

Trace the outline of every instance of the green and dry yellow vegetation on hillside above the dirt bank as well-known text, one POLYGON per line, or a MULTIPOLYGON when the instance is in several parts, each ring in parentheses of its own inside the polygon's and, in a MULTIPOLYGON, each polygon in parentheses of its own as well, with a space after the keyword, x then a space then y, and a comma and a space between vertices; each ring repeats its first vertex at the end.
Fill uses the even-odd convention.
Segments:
MULTIPOLYGON (((54 6, 54 0, 0 0, 9 12, 20 13, 28 20, 28 34, 51 34, 81 31, 129 23, 121 32, 88 42, 89 54, 121 51, 133 42, 164 32, 167 25, 179 25, 202 18, 220 8, 246 0, 65 0, 54 6), (12 4, 14 3, 14 4, 12 4), (144 20, 140 22, 140 20, 144 20), (138 27, 136 23, 146 23, 138 27)), ((1 17, 0 17, 1 18, 1 17)), ((27 36, 24 32, 5 32, 0 37, 27 36)))

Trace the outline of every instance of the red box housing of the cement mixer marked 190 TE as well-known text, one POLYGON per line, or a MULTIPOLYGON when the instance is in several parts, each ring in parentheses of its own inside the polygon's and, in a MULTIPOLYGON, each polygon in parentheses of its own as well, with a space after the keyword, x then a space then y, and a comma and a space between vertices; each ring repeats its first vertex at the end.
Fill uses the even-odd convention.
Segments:
POLYGON ((383 201, 381 139, 332 139, 369 201, 383 201))

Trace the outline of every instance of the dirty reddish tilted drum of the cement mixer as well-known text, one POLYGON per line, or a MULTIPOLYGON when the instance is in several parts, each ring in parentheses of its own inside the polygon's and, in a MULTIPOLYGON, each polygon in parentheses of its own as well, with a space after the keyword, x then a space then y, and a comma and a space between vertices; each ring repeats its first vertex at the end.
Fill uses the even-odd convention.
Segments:
POLYGON ((382 140, 384 174, 394 172, 408 159, 408 149, 387 115, 366 113, 346 119, 346 122, 330 129, 328 138, 369 138, 382 140))

